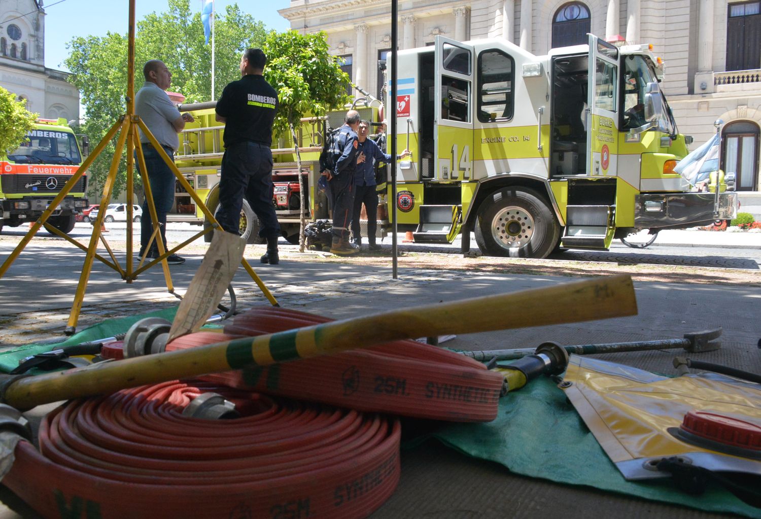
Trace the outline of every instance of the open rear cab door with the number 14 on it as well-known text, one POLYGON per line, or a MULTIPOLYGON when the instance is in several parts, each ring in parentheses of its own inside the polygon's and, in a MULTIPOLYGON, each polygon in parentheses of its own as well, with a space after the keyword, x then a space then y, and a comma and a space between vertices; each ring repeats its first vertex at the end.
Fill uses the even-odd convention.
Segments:
POLYGON ((435 46, 432 180, 469 180, 473 177, 473 46, 441 36, 435 46))

